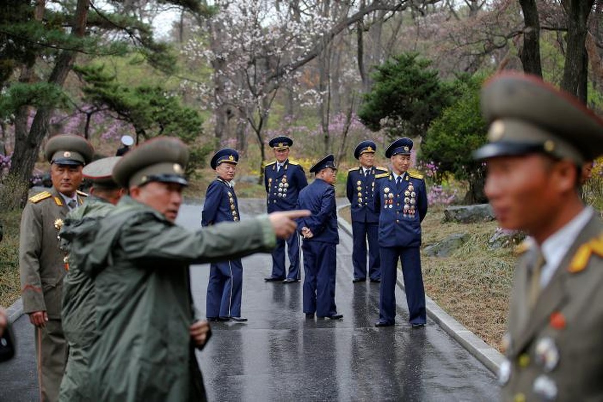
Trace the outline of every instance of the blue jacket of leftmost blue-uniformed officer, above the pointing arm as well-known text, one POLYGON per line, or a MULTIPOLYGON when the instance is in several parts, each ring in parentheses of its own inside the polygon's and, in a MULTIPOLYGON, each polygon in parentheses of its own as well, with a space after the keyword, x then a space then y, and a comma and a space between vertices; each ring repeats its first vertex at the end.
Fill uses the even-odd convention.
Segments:
POLYGON ((201 225, 210 226, 218 222, 238 221, 239 218, 235 191, 230 187, 229 182, 220 178, 215 179, 207 187, 201 225))

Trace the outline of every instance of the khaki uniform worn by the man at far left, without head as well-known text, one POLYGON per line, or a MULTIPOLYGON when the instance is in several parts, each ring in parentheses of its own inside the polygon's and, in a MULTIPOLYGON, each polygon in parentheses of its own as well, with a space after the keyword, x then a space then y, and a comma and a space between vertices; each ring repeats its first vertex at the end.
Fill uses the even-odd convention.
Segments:
MULTIPOLYGON (((78 204, 83 193, 78 193, 78 204)), ((45 327, 36 327, 36 359, 40 395, 46 401, 58 399, 65 370, 67 345, 61 326, 61 297, 66 268, 59 249, 58 228, 69 212, 55 188, 28 200, 21 217, 19 271, 24 311, 46 311, 45 327)))

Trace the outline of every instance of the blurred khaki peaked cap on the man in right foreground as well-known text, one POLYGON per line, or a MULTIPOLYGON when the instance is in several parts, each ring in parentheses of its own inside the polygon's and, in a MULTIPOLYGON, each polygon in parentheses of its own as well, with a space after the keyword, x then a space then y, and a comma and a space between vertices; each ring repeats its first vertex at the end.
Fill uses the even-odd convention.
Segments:
POLYGON ((482 88, 481 106, 489 142, 476 159, 544 153, 581 165, 603 154, 603 120, 535 76, 494 76, 482 88))

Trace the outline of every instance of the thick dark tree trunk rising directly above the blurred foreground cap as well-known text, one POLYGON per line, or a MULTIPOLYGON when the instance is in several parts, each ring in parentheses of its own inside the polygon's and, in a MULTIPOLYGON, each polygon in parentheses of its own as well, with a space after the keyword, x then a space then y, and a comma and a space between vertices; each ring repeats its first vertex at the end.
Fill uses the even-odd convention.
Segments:
POLYGON ((561 89, 578 96, 586 104, 587 70, 586 34, 587 20, 595 0, 564 0, 567 14, 567 51, 563 67, 561 89))

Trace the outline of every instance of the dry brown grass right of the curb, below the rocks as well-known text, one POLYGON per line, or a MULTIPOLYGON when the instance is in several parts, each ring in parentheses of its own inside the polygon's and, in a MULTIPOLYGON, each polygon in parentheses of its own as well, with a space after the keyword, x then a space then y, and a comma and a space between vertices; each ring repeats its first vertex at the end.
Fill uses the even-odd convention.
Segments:
MULTIPOLYGON (((349 209, 340 215, 350 220, 349 209)), ((452 233, 470 240, 446 258, 421 257, 425 292, 467 329, 500 349, 516 258, 513 248, 488 249, 496 222, 443 223, 443 209, 432 209, 423 221, 423 247, 452 233)))

